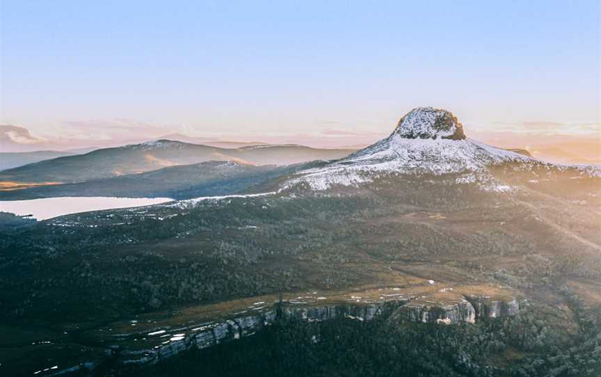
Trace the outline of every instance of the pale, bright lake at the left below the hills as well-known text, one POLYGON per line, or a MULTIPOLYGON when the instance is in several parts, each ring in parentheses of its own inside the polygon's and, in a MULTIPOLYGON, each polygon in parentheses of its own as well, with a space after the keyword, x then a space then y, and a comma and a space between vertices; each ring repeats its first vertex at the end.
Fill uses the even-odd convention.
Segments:
POLYGON ((0 201, 0 212, 33 215, 38 220, 102 209, 140 207, 170 202, 171 198, 110 198, 104 196, 0 201))

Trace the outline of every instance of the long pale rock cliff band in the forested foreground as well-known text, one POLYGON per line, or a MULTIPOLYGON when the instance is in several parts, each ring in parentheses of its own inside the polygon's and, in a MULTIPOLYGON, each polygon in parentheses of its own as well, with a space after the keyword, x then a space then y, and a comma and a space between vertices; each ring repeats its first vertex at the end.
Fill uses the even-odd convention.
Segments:
POLYGON ((250 316, 228 319, 221 323, 206 323, 204 326, 192 329, 189 334, 182 336, 182 339, 160 347, 142 351, 117 349, 113 357, 122 364, 152 364, 191 348, 207 348, 253 335, 265 326, 271 325, 278 318, 278 313, 280 316, 304 321, 326 321, 340 317, 371 321, 387 304, 400 305, 392 312, 391 323, 396 323, 397 320, 438 324, 474 323, 478 319, 512 316, 518 314, 520 310, 518 300, 506 302, 483 296, 470 296, 449 305, 436 305, 423 300, 394 300, 360 305, 272 306, 264 312, 257 312, 250 316))

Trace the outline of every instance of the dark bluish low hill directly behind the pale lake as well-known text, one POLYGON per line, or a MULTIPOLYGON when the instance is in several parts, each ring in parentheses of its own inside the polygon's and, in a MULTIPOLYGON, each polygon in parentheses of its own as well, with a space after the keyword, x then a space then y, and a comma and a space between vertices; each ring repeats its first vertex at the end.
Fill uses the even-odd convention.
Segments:
POLYGON ((0 200, 26 200, 59 196, 117 196, 174 199, 228 195, 270 179, 310 168, 316 163, 292 166, 252 166, 230 161, 207 161, 170 166, 147 173, 93 179, 74 184, 36 186, 0 191, 0 200))

